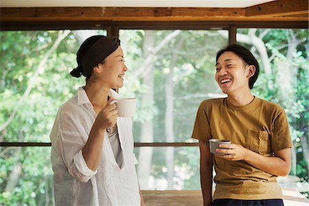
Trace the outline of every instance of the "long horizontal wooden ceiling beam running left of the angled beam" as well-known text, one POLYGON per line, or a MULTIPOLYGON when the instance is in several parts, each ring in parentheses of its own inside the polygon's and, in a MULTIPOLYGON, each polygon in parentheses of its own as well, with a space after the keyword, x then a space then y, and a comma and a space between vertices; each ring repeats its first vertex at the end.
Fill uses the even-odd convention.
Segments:
POLYGON ((224 16, 242 16, 242 8, 98 8, 98 7, 62 7, 62 8, 1 8, 1 18, 4 21, 18 18, 36 18, 54 20, 60 18, 66 21, 76 19, 124 20, 124 19, 173 19, 174 18, 207 18, 224 16))

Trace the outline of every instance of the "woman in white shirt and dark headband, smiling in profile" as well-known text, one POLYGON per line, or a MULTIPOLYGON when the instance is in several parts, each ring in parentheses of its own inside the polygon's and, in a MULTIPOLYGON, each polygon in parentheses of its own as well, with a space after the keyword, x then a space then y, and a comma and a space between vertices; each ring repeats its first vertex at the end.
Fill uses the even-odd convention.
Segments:
POLYGON ((110 104, 128 70, 119 39, 87 38, 77 63, 71 75, 86 77, 86 86, 60 107, 50 134, 56 205, 144 205, 132 120, 110 104))

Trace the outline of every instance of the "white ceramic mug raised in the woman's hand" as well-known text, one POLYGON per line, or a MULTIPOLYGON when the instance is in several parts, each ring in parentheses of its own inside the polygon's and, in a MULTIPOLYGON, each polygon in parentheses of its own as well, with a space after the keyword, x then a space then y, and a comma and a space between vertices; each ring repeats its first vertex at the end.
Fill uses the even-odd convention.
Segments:
POLYGON ((120 117, 133 117, 136 109, 135 98, 119 98, 111 101, 111 104, 117 105, 118 115, 120 117))

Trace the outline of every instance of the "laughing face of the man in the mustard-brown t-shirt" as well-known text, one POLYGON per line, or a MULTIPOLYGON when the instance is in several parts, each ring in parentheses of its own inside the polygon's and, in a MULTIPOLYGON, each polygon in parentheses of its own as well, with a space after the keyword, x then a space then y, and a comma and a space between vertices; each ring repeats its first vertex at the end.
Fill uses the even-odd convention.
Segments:
POLYGON ((222 53, 216 62, 216 81, 222 92, 228 95, 250 90, 249 78, 255 67, 246 63, 232 51, 222 53))

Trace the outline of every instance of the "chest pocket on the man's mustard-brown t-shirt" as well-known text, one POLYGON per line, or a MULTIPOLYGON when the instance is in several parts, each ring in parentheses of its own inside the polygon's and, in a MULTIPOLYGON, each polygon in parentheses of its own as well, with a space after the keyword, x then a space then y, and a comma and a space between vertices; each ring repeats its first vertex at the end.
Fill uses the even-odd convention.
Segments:
POLYGON ((271 153, 271 141, 268 138, 267 131, 248 130, 247 133, 247 149, 260 153, 261 155, 271 153))

